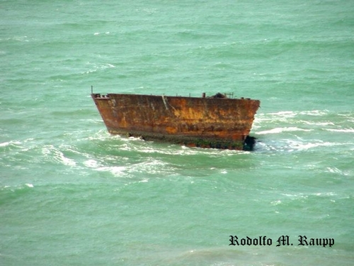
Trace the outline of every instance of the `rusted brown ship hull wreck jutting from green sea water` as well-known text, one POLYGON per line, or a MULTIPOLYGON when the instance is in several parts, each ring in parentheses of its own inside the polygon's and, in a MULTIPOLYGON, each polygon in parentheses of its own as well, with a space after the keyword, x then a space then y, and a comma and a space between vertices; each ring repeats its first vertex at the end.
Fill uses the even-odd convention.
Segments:
POLYGON ((253 99, 91 94, 108 132, 201 148, 252 150, 260 101, 253 99))

